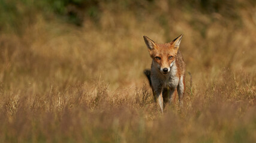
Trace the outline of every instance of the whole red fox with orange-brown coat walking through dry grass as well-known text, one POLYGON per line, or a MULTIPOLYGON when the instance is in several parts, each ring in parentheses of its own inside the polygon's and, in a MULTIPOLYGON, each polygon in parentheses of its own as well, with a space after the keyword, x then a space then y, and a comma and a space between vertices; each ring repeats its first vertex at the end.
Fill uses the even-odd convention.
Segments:
POLYGON ((154 100, 163 111, 167 102, 173 100, 174 91, 177 89, 179 104, 185 92, 185 63, 179 51, 180 35, 170 43, 155 43, 147 36, 143 36, 150 57, 152 58, 151 70, 144 70, 152 87, 154 100), (169 90, 168 90, 169 89, 169 90))

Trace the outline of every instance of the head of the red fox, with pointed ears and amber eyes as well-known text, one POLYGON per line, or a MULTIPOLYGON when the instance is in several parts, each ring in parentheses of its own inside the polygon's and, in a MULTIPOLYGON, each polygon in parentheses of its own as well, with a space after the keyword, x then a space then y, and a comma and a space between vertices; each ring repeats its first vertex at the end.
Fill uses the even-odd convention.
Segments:
POLYGON ((170 72, 176 59, 182 36, 180 35, 170 43, 155 43, 147 36, 143 36, 150 57, 153 59, 153 65, 158 67, 162 74, 170 72))

